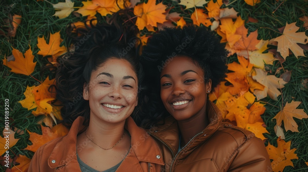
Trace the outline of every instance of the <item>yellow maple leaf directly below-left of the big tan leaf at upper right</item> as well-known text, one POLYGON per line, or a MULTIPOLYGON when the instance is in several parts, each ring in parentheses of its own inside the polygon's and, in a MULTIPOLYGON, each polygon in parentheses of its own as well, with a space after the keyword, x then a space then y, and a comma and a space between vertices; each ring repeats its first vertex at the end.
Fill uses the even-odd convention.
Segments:
POLYGON ((250 50, 241 50, 237 53, 237 55, 244 56, 246 59, 249 58, 251 64, 253 64, 256 68, 264 68, 264 63, 268 65, 273 65, 273 61, 278 60, 274 58, 273 53, 263 53, 267 50, 268 40, 261 40, 257 45, 257 50, 250 51, 250 50))

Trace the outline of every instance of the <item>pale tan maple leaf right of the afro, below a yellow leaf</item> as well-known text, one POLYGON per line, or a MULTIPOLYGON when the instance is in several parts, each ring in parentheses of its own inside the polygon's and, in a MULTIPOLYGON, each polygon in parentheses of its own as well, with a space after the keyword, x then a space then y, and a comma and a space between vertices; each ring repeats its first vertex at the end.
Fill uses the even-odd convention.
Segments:
POLYGON ((255 70, 257 75, 253 76, 253 79, 264 85, 264 90, 255 89, 253 92, 257 100, 263 99, 267 95, 271 99, 277 100, 277 97, 281 95, 281 92, 277 88, 284 88, 284 84, 287 82, 281 78, 277 78, 275 75, 267 75, 267 72, 264 72, 262 69, 255 68, 255 70))

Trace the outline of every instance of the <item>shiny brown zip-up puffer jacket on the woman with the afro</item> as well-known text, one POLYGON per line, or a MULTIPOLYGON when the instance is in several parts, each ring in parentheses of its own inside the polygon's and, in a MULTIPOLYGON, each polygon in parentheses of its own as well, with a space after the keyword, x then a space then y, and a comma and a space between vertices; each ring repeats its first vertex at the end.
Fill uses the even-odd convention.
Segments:
POLYGON ((263 141, 247 130, 223 123, 221 112, 208 101, 209 125, 179 152, 177 122, 168 117, 164 125, 150 130, 163 151, 165 171, 175 172, 272 172, 263 141))

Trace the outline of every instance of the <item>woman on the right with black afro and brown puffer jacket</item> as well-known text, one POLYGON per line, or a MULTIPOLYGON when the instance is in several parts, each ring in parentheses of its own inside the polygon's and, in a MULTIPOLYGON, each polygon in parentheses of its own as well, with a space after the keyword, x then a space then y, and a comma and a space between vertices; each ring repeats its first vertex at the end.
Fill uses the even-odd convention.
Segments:
POLYGON ((163 151, 165 170, 272 171, 263 141, 224 123, 208 100, 225 77, 226 54, 213 33, 193 25, 165 28, 144 47, 153 92, 143 124, 155 124, 150 134, 163 151))

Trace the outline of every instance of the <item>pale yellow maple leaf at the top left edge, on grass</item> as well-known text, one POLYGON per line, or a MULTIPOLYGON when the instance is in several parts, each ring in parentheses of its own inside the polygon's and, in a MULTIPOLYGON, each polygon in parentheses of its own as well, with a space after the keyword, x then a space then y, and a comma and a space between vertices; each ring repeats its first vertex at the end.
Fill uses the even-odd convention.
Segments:
POLYGON ((74 11, 74 2, 71 0, 65 0, 65 2, 59 2, 57 4, 52 4, 54 9, 59 10, 56 11, 53 16, 57 16, 59 18, 66 18, 74 11))

